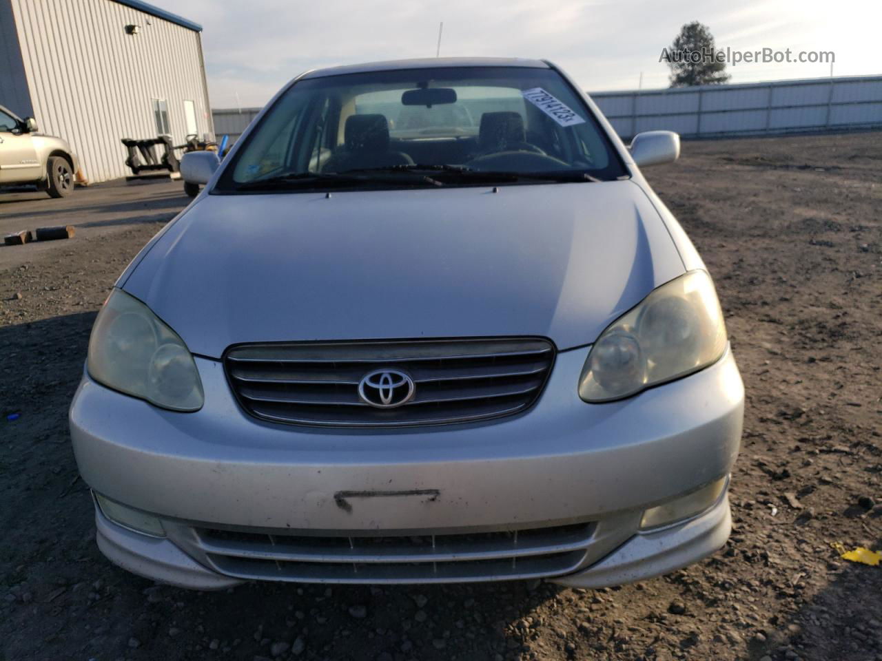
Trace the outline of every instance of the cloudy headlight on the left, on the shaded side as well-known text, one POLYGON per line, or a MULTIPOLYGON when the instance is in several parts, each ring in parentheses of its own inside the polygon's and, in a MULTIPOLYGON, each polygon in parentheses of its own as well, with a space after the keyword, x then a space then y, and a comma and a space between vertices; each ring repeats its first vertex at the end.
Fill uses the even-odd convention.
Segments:
POLYGON ((173 411, 202 408, 202 382, 187 345, 120 289, 95 320, 86 366, 95 381, 151 404, 173 411))

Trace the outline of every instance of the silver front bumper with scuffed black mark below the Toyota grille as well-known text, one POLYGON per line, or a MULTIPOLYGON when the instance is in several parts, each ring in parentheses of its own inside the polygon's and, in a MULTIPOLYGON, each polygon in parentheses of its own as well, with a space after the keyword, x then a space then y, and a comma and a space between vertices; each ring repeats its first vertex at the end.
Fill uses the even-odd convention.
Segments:
MULTIPOLYGON (((356 432, 251 418, 213 360, 197 359, 206 405, 194 413, 155 408, 86 375, 71 405, 83 478, 112 500, 160 516, 169 531, 168 538, 148 538, 99 512, 101 550, 135 573, 198 589, 274 577, 213 561, 191 531, 215 527, 365 537, 590 523, 579 542, 584 553, 573 562, 561 556, 557 565, 524 562, 500 572, 488 563, 484 573, 434 575, 456 581, 542 576, 598 587, 655 576, 713 552, 729 534, 725 495, 690 522, 651 534, 638 528, 644 509, 730 472, 744 406, 735 361, 727 354, 637 397, 587 405, 576 392, 586 355, 587 349, 558 354, 540 401, 523 415, 356 432)), ((370 572, 278 577, 433 580, 370 572)))

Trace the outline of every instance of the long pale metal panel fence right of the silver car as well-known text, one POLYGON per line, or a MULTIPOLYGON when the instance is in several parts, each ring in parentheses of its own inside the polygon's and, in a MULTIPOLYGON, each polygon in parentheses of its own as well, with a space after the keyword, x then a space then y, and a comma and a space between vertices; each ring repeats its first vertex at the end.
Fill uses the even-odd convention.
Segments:
POLYGON ((723 137, 882 127, 882 76, 590 95, 625 138, 660 129, 723 137))

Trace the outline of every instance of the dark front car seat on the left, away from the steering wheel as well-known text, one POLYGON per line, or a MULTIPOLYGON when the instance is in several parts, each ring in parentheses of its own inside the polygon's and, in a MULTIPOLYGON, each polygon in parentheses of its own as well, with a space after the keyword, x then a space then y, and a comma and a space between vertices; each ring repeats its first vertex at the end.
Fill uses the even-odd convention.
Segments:
POLYGON ((328 160, 322 168, 324 172, 414 164, 406 153, 389 149, 389 123, 385 115, 350 115, 344 131, 345 148, 328 160))

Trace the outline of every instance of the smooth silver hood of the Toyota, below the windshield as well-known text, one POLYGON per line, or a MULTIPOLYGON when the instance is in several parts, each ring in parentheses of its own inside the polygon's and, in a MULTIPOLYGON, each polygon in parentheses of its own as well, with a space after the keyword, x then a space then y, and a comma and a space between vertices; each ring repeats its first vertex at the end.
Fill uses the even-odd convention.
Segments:
POLYGON ((123 288, 214 358, 286 340, 530 335, 565 349, 683 272, 643 190, 620 181, 207 195, 123 288))

